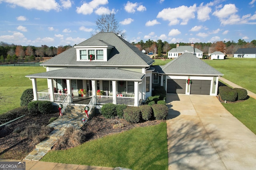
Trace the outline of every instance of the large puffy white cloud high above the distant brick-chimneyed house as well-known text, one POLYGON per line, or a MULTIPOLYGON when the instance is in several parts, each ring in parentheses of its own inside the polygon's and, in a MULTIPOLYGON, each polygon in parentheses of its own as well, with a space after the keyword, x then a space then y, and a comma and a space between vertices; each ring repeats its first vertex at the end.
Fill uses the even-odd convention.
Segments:
POLYGON ((156 18, 170 21, 169 25, 176 25, 182 20, 182 25, 186 25, 190 19, 195 18, 196 4, 193 6, 179 6, 177 8, 165 8, 158 12, 156 18))

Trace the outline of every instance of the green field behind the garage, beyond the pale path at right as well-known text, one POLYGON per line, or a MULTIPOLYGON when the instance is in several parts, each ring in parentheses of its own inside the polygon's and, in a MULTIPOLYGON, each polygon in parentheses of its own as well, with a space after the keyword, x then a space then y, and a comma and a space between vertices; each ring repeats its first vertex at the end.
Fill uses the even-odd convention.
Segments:
POLYGON ((203 60, 224 74, 223 78, 256 93, 256 59, 227 57, 226 60, 203 60))

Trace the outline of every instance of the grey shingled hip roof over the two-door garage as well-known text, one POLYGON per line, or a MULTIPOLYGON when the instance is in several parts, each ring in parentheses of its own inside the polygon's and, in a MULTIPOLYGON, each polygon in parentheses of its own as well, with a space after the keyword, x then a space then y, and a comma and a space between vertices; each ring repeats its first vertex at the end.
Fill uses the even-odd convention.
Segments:
POLYGON ((183 53, 167 63, 162 70, 164 74, 171 75, 223 76, 222 73, 191 53, 183 53))

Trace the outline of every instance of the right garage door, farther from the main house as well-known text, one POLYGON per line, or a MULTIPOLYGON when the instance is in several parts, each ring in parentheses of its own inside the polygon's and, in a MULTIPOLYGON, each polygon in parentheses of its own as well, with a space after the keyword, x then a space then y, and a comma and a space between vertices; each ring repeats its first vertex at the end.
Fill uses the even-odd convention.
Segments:
POLYGON ((190 94, 210 95, 211 80, 192 80, 190 94))

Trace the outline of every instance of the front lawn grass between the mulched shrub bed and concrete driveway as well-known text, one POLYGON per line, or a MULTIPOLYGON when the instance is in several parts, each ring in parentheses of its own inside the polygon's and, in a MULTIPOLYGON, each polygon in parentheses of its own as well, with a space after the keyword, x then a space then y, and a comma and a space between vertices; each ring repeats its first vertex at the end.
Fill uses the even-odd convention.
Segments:
POLYGON ((42 161, 89 166, 120 166, 132 170, 167 170, 166 134, 166 123, 136 127, 130 131, 86 142, 72 149, 50 151, 42 161))

